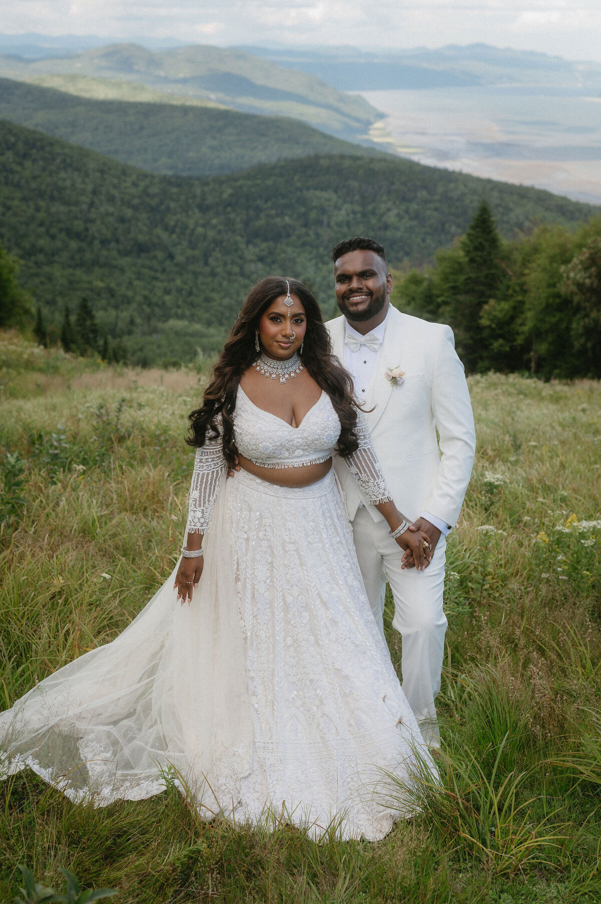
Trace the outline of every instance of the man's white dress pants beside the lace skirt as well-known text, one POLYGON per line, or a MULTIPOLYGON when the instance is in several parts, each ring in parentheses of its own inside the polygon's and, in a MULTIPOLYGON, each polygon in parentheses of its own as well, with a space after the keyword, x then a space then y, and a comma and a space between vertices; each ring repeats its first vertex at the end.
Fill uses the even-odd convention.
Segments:
POLYGON ((390 582, 395 610, 392 626, 403 640, 403 691, 424 739, 437 747, 434 700, 440 691, 445 652, 446 538, 440 537, 432 562, 425 571, 401 570, 403 551, 390 537, 385 521, 374 523, 367 509, 361 507, 352 522, 352 532, 371 611, 382 635, 387 577, 390 582))

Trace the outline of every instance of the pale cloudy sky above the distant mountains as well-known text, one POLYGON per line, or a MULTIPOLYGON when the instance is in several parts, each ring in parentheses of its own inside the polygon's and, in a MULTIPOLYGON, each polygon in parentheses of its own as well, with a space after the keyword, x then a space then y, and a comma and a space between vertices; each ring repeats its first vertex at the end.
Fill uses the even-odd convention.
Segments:
POLYGON ((0 0, 0 33, 31 32, 387 51, 484 42, 601 61, 601 0, 0 0))

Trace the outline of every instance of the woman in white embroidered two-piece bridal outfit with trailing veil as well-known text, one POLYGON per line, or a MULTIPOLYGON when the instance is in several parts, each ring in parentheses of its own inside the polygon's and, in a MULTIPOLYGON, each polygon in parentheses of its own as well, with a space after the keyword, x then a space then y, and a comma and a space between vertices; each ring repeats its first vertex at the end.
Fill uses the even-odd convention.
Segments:
POLYGON ((0 714, 4 775, 31 767, 98 806, 171 776, 204 818, 271 810, 315 837, 380 839, 412 812, 386 775, 435 767, 371 615, 333 454, 418 569, 428 538, 390 499, 300 282, 252 289, 190 421, 181 560, 111 644, 0 714))

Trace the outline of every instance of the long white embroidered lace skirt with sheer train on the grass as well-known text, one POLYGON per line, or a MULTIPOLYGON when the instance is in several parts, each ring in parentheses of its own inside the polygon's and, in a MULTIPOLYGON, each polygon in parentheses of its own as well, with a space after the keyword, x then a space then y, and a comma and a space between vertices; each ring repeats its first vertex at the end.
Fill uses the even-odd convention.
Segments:
POLYGON ((215 642, 202 599, 182 609, 172 575, 112 644, 0 715, 5 774, 29 766, 72 800, 107 805, 161 792, 171 771, 206 818, 272 811, 315 837, 335 825, 382 838, 411 813, 388 776, 410 782, 418 757, 436 770, 373 621, 333 471, 299 489, 240 471, 211 541, 227 551, 239 650, 231 623, 229 645, 215 642))

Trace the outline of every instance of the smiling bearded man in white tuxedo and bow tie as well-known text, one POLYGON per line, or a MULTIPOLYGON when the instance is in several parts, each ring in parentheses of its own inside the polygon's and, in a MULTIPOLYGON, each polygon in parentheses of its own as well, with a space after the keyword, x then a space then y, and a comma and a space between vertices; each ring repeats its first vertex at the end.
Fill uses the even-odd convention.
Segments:
POLYGON ((438 746, 434 700, 445 645, 446 535, 461 511, 475 450, 464 367, 449 326, 401 314, 390 305, 392 278, 377 241, 342 241, 332 259, 343 313, 327 324, 333 352, 352 374, 395 504, 430 537, 434 556, 425 571, 405 566, 407 553, 390 538, 388 524, 362 494, 343 458, 337 457, 334 467, 373 615, 383 634, 388 578, 395 607, 392 625, 403 639, 403 691, 425 739, 438 746), (390 380, 395 369, 399 377, 390 380))

